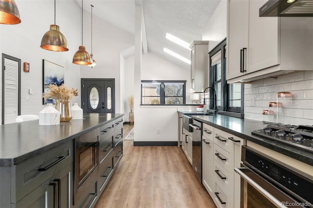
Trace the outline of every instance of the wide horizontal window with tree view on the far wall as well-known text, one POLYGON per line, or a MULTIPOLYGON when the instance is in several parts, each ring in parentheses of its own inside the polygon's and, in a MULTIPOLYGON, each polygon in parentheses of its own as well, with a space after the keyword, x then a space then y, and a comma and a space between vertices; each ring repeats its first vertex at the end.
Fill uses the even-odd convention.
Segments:
POLYGON ((185 104, 186 81, 141 81, 141 104, 185 104))

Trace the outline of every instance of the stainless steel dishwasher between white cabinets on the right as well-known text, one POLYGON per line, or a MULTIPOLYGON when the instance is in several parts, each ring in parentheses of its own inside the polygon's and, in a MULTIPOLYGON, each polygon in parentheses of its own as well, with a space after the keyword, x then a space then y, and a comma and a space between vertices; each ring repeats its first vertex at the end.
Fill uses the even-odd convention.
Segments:
POLYGON ((202 183, 202 161, 201 161, 201 129, 202 123, 193 120, 192 124, 189 124, 193 128, 192 131, 192 169, 195 171, 196 176, 200 183, 202 183))

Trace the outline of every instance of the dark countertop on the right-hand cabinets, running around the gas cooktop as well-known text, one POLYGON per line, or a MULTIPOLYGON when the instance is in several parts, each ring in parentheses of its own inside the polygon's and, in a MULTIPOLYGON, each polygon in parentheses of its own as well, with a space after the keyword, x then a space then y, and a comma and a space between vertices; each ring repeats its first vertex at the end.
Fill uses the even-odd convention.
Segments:
POLYGON ((240 119, 230 116, 217 115, 217 116, 191 116, 195 120, 203 122, 208 125, 212 125, 225 132, 238 136, 242 139, 249 140, 258 145, 265 146, 276 152, 287 155, 303 163, 313 166, 313 153, 298 149, 293 146, 280 143, 278 141, 261 138, 251 134, 251 131, 262 129, 263 125, 261 121, 251 119, 240 119))

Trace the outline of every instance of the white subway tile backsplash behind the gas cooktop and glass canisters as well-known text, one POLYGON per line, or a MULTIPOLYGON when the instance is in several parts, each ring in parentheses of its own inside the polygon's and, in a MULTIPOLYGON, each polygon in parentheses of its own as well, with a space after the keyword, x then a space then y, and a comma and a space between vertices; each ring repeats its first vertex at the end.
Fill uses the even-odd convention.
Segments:
POLYGON ((278 92, 291 92, 290 108, 284 115, 292 125, 313 125, 313 71, 292 73, 245 84, 245 118, 262 121, 268 103, 277 101, 278 92))

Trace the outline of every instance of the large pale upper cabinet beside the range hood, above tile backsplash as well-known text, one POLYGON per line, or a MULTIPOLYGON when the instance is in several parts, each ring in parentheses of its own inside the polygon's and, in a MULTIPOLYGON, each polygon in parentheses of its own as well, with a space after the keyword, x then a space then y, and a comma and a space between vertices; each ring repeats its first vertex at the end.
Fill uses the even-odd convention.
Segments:
POLYGON ((313 18, 259 17, 265 2, 227 0, 228 83, 313 70, 313 18))

